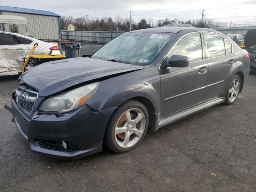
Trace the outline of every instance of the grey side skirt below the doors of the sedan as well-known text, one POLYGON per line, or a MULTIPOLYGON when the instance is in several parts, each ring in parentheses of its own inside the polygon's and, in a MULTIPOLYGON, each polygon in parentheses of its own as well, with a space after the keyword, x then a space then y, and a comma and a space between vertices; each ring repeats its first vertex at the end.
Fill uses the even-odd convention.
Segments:
POLYGON ((194 106, 193 108, 187 109, 185 111, 179 112, 178 114, 174 114, 172 116, 165 117, 158 122, 158 127, 156 130, 158 130, 160 127, 166 126, 167 124, 170 124, 172 122, 175 122, 177 120, 180 120, 182 118, 185 118, 187 116, 190 116, 196 112, 202 111, 204 109, 210 108, 214 105, 223 103, 225 101, 225 97, 221 98, 215 98, 213 100, 210 100, 208 102, 202 103, 198 106, 194 106))

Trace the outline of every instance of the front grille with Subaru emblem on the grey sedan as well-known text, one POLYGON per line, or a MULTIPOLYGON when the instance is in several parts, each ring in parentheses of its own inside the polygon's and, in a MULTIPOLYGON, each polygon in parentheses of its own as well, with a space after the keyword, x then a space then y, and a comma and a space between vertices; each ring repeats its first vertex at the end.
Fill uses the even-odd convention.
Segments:
POLYGON ((38 93, 25 85, 18 86, 16 90, 16 103, 28 115, 31 115, 37 97, 38 93))

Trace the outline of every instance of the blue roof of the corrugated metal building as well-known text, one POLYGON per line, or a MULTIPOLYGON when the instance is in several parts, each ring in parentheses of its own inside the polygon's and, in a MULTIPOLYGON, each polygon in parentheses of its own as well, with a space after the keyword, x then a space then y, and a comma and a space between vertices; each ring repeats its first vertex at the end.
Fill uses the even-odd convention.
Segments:
POLYGON ((60 15, 50 11, 27 9, 27 8, 20 8, 20 7, 0 6, 0 11, 60 17, 60 15))

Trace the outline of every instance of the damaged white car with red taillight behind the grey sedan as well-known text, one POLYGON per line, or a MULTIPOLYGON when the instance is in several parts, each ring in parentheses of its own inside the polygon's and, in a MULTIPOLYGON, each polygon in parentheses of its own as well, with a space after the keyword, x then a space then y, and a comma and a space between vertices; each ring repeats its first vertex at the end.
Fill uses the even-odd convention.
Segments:
POLYGON ((32 37, 0 32, 0 76, 14 75, 21 71, 23 58, 26 58, 34 44, 38 46, 33 54, 60 54, 57 43, 44 42, 32 37))

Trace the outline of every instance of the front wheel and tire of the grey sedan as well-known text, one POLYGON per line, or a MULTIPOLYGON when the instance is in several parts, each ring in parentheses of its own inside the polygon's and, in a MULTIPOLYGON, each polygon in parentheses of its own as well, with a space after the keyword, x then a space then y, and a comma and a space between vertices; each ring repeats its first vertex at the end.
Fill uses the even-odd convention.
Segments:
POLYGON ((128 152, 140 144, 147 130, 146 107, 136 100, 128 100, 112 114, 106 127, 104 144, 116 153, 128 152))

